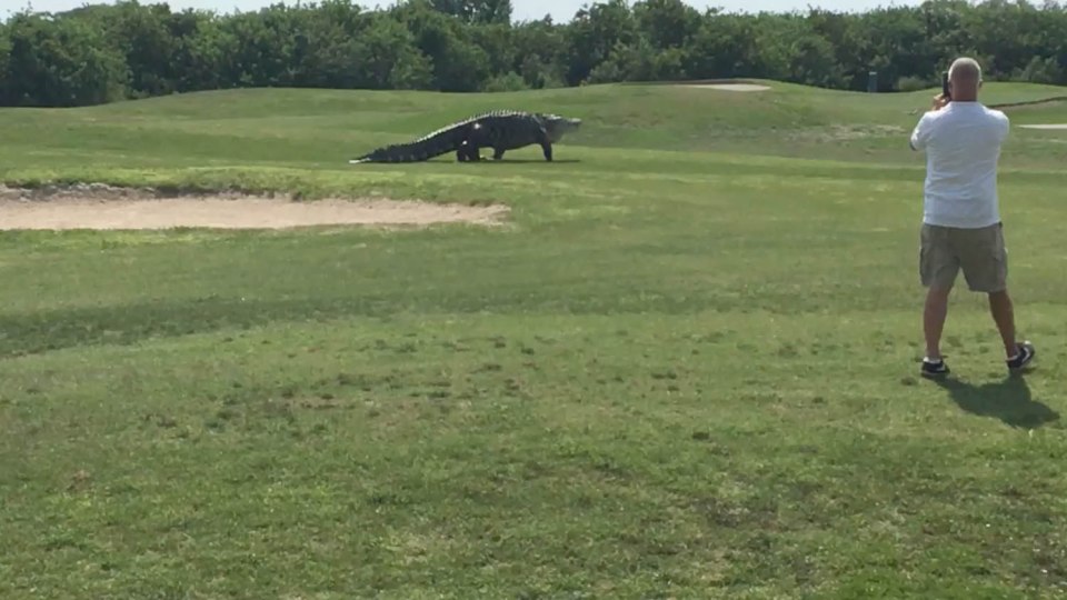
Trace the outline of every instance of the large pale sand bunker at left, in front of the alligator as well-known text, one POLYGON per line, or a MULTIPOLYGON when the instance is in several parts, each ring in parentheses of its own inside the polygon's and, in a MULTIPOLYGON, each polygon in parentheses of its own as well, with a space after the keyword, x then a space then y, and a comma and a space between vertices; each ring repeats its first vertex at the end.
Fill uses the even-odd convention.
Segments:
POLYGON ((312 226, 500 224, 503 206, 389 199, 293 200, 240 193, 160 194, 99 184, 0 187, 0 229, 288 229, 312 226))

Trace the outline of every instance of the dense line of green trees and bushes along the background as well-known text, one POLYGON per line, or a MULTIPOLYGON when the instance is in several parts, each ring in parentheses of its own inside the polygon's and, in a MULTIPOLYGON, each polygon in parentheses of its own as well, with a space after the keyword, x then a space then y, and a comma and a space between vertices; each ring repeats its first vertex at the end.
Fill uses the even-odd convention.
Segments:
POLYGON ((350 0, 218 14, 166 3, 23 10, 0 23, 0 104, 74 107, 246 87, 502 91, 768 78, 841 90, 936 86, 959 56, 987 80, 1067 84, 1067 7, 930 0, 862 13, 735 14, 682 0, 585 4, 516 22, 510 0, 350 0))

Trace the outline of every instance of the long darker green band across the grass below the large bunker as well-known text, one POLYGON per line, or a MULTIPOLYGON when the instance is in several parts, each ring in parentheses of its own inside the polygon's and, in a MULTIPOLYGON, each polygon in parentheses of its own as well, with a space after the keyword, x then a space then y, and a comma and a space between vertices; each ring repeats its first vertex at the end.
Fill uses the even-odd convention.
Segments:
MULTIPOLYGON (((373 289, 367 286, 367 289, 373 289)), ((185 299, 143 300, 126 304, 69 307, 4 313, 0 311, 0 360, 39 354, 67 348, 126 346, 212 333, 222 330, 251 329, 279 322, 326 322, 335 319, 389 319, 395 314, 421 312, 432 314, 476 314, 525 312, 530 310, 562 311, 569 314, 631 313, 635 310, 662 314, 689 314, 695 310, 729 311, 739 307, 777 310, 787 293, 765 294, 758 301, 747 297, 707 296, 694 300, 685 296, 664 294, 654 299, 635 299, 632 293, 612 294, 597 282, 588 287, 572 280, 557 280, 554 286, 531 289, 516 286, 492 292, 429 289, 413 293, 391 287, 380 293, 358 290, 351 296, 298 298, 233 298, 209 296, 185 299), (570 296, 560 297, 557 289, 568 284, 570 296)), ((791 310, 807 310, 797 303, 791 310)))

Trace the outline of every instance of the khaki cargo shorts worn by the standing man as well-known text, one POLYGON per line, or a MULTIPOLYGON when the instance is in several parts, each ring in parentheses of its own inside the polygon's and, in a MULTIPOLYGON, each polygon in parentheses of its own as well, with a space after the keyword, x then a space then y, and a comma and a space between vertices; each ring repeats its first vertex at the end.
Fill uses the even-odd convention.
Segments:
POLYGON ((926 288, 947 289, 963 269, 971 291, 997 292, 1008 287, 1008 252, 1004 226, 958 229, 923 224, 919 278, 926 288))

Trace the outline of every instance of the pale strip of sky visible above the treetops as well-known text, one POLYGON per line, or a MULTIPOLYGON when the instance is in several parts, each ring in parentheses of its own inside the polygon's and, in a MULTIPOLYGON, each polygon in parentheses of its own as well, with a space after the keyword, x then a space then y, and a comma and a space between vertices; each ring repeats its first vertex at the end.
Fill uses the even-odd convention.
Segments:
MULTIPOLYGON (((277 1, 277 0, 275 0, 277 1)), ((705 9, 717 7, 727 12, 758 12, 760 10, 769 11, 789 11, 806 10, 807 7, 815 6, 832 11, 861 11, 879 6, 907 6, 917 4, 920 0, 687 0, 687 3, 705 9)), ((516 19, 540 19, 546 13, 551 14, 556 22, 566 22, 575 14, 587 0, 511 0, 512 13, 516 19)), ((101 3, 99 0, 0 0, 0 17, 7 19, 16 10, 21 10, 29 4, 34 11, 60 12, 78 8, 87 3, 101 3)), ((110 1, 107 3, 111 3, 110 1)), ((141 0, 141 3, 154 3, 153 0, 141 0)), ((210 9, 218 12, 232 12, 235 10, 249 11, 269 6, 272 0, 170 0, 168 2, 172 10, 185 8, 210 9)), ((293 0, 286 0, 283 3, 292 4, 293 0)), ((353 0, 353 3, 375 8, 376 3, 382 8, 391 6, 392 0, 353 0)), ((632 2, 631 2, 632 3, 632 2)))

